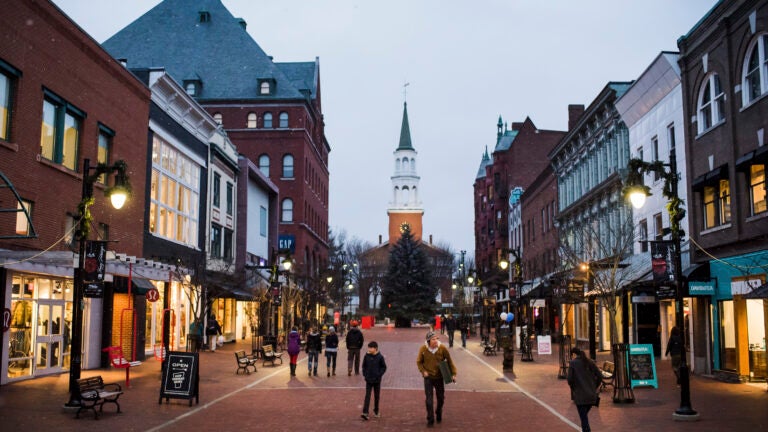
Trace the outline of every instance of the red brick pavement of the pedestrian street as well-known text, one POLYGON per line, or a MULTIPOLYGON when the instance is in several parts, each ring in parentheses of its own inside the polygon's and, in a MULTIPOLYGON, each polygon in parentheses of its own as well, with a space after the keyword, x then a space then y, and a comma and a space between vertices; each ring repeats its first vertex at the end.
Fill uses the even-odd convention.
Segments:
MULTIPOLYGON (((346 350, 341 349, 337 376, 325 376, 321 356, 318 377, 308 377, 302 354, 297 377, 291 379, 287 359, 282 366, 262 367, 250 375, 235 375, 233 352, 250 350, 250 342, 227 344, 216 353, 200 354, 200 404, 171 399, 158 404, 160 364, 155 360, 132 369, 131 388, 120 398, 122 414, 107 406, 94 421, 80 420, 62 409, 67 400, 68 375, 43 377, 0 387, 3 431, 237 431, 328 430, 412 431, 426 429, 422 379, 415 356, 426 330, 381 328, 365 330, 366 341, 379 342, 388 371, 381 391, 382 417, 363 422, 364 382, 346 375, 346 350)), ((447 343, 447 337, 443 336, 447 343)), ((459 339, 456 339, 459 342, 459 339)), ((555 347, 556 349, 557 347, 555 347)), ((435 430, 573 431, 578 415, 568 386, 557 379, 557 356, 534 355, 534 362, 515 361, 516 376, 502 374, 502 356, 483 356, 477 338, 452 348, 457 383, 447 386, 444 420, 435 430)), ((601 353, 600 357, 607 356, 601 353)), ((692 378, 694 409, 700 420, 672 420, 679 406, 679 389, 669 363, 657 364, 659 389, 635 389, 636 403, 613 404, 602 394, 599 408, 590 412, 594 431, 710 431, 768 430, 768 393, 765 384, 725 384, 692 378)), ((102 375, 124 384, 122 370, 87 370, 84 377, 102 375)))

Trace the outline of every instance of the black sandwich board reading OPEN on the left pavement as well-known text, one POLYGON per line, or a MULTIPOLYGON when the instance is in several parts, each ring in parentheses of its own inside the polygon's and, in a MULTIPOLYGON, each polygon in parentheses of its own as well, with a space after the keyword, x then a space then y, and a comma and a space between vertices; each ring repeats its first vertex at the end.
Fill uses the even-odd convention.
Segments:
POLYGON ((170 398, 189 399, 189 406, 192 406, 192 399, 195 399, 196 404, 200 403, 200 362, 198 360, 196 352, 170 351, 168 353, 163 368, 158 404, 163 403, 163 398, 166 402, 170 398))

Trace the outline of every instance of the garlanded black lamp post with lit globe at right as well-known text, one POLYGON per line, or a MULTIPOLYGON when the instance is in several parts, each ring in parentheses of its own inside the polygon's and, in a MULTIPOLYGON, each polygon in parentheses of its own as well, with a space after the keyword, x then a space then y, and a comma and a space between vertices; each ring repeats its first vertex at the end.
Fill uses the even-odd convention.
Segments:
MULTIPOLYGON (((631 159, 629 161, 629 175, 627 176, 627 186, 624 194, 627 195, 635 208, 640 208, 645 204, 645 198, 650 195, 650 188, 643 184, 643 176, 647 173, 659 174, 664 179, 664 197, 668 199, 667 210, 669 211, 670 234, 672 237, 672 266, 674 285, 675 285, 675 322, 677 328, 681 331, 685 328, 685 319, 683 317, 683 269, 681 258, 682 236, 685 233, 680 229, 680 221, 685 217, 685 209, 682 208, 683 200, 678 193, 679 174, 677 172, 677 155, 675 147, 669 149, 669 163, 661 161, 645 162, 641 159, 631 159), (669 168, 669 171, 665 169, 669 168)), ((683 332, 683 338, 685 338, 683 332)), ((685 353, 681 356, 680 362, 680 408, 672 415, 676 420, 697 420, 699 413, 694 411, 691 406, 691 388, 688 369, 688 360, 685 353)))

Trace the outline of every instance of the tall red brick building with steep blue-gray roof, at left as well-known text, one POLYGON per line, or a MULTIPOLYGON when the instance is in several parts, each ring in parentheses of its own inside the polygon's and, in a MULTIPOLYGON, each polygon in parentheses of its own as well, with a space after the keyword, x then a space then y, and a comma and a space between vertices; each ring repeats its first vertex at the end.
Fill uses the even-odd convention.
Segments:
POLYGON ((299 280, 312 283, 328 263, 319 60, 274 62, 218 0, 165 0, 104 47, 129 68, 164 67, 278 187, 280 249, 295 258, 299 280))

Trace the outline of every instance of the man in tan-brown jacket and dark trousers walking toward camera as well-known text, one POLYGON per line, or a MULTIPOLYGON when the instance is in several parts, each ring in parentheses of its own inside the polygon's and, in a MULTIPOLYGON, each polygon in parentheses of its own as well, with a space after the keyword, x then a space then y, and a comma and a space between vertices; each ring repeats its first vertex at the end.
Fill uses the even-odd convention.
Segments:
POLYGON ((424 394, 427 406, 427 427, 432 427, 435 421, 443 421, 443 403, 445 402, 445 382, 440 372, 440 362, 446 361, 451 369, 451 380, 456 380, 456 365, 453 364, 448 348, 440 344, 440 336, 430 331, 427 340, 419 348, 416 357, 416 367, 424 377, 424 394), (437 395, 437 406, 433 404, 433 391, 437 395))

